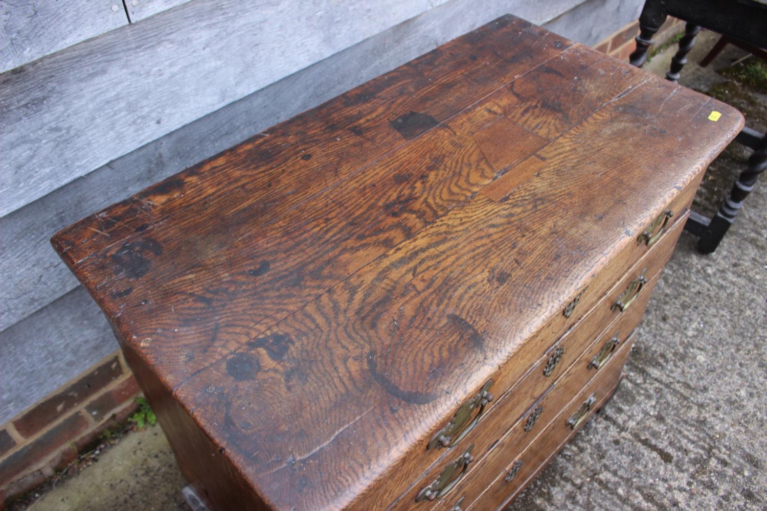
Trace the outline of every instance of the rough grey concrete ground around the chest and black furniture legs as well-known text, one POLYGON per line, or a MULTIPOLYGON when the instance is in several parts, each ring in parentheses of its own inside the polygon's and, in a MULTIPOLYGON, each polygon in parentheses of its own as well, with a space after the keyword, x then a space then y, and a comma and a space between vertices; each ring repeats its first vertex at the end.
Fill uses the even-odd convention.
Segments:
MULTIPOLYGON (((711 44, 710 34, 701 39, 706 41, 699 42, 692 62, 711 44)), ((738 56, 729 51, 713 67, 738 56)), ((670 52, 655 57, 650 70, 663 73, 669 59, 670 52)), ((685 71, 693 87, 722 80, 694 64, 685 71)), ((752 127, 767 128, 763 111, 762 120, 759 113, 749 116, 755 118, 752 127)), ((729 150, 713 165, 699 208, 718 205, 732 182, 722 176, 739 172, 747 154, 729 150)), ((764 181, 716 254, 696 254, 695 239, 682 235, 614 399, 512 509, 767 509, 764 181)), ((147 428, 123 438, 32 507, 185 509, 183 484, 160 428, 147 428)))

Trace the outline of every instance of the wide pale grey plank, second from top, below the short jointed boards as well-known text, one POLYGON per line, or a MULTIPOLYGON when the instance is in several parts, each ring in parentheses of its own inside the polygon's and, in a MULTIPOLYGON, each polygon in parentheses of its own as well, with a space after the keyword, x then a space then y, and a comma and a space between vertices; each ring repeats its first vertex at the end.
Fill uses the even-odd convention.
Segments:
POLYGON ((198 0, 2 74, 0 215, 445 1, 198 0))

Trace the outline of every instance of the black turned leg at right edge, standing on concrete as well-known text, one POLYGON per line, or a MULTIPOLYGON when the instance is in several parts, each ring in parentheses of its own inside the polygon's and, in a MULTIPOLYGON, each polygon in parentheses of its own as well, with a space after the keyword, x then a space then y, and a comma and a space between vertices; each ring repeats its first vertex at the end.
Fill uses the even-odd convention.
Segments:
POLYGON ((716 251, 719 242, 722 241, 727 229, 743 207, 743 201, 754 188, 756 179, 765 169, 767 169, 767 133, 762 136, 759 148, 749 158, 749 166, 741 172, 738 181, 732 186, 729 197, 711 219, 708 230, 700 237, 698 251, 701 254, 711 254, 716 251))

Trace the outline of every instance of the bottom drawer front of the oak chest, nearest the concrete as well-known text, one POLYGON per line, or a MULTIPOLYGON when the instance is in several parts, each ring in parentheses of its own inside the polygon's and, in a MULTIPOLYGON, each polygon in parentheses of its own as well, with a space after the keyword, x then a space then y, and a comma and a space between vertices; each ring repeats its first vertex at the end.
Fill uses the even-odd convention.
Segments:
MULTIPOLYGON (((630 336, 624 346, 617 350, 614 359, 601 369, 597 378, 591 380, 583 391, 561 408, 560 413, 543 428, 542 433, 522 451, 522 454, 515 450, 499 450, 495 455, 495 463, 492 467, 488 466, 476 482, 478 488, 482 486, 479 489, 481 495, 463 509, 484 511, 509 503, 583 426, 590 415, 612 395, 633 342, 634 336, 630 336), (482 492, 484 488, 486 490, 482 492)), ((472 498, 467 494, 464 503, 470 501, 472 498)))

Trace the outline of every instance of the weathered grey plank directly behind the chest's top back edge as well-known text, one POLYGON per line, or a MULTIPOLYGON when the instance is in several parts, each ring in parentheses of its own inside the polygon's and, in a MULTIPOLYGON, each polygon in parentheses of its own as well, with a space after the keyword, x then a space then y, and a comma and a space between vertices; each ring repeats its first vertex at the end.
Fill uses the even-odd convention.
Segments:
MULTIPOLYGON (((568 8, 577 0, 561 2, 568 8)), ((523 2, 520 2, 522 5, 523 2)), ((554 3, 554 2, 552 2, 554 3)), ((505 14, 509 5, 449 2, 334 54, 244 99, 163 136, 44 198, 0 218, 0 331, 74 289, 74 277, 48 244, 51 234, 206 159, 281 120, 383 74, 505 14)), ((522 15, 540 11, 527 2, 522 15)), ((548 5, 551 8, 551 4, 548 5)), ((547 10, 542 15, 553 16, 547 10)), ((538 19, 545 21, 545 18, 538 19)), ((615 28, 606 26, 606 34, 615 28)))

